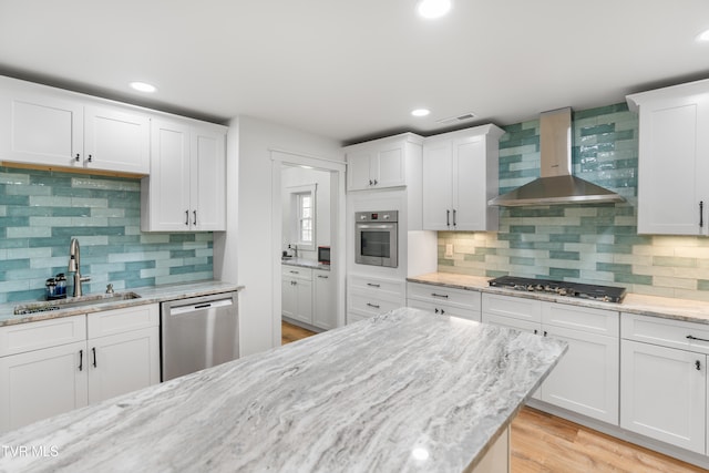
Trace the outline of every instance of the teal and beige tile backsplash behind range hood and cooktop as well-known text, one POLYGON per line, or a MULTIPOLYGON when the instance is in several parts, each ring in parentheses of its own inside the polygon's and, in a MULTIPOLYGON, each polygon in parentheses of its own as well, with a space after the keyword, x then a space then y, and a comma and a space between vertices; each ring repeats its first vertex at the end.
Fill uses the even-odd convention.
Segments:
MULTIPOLYGON (((624 286, 709 300, 709 238, 637 235, 638 117, 625 103, 573 114, 573 169, 621 204, 501 208, 496 233, 439 233, 439 270, 624 286), (452 258, 445 244, 453 244, 452 258)), ((538 120, 504 127, 500 193, 540 175, 538 120)))

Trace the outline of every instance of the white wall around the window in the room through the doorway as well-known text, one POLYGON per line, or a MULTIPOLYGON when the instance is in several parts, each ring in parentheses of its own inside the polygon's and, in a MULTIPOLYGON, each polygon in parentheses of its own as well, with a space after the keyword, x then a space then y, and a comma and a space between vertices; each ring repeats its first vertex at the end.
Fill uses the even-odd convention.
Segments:
MULTIPOLYGON (((291 195, 289 187, 317 185, 316 191, 316 232, 315 246, 330 245, 330 173, 318 169, 306 169, 299 166, 284 166, 281 171, 282 186, 282 238, 281 249, 287 249, 288 244, 295 243, 297 235, 291 235, 291 195)), ((289 251, 291 253, 291 251, 289 251)), ((317 260, 317 249, 314 251, 298 250, 298 256, 317 260)))

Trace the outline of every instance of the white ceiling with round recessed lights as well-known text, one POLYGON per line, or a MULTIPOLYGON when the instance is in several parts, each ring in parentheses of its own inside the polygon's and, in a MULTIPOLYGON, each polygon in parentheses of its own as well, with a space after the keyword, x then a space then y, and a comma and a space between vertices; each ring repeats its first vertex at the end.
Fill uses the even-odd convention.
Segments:
POLYGON ((0 0, 0 73, 348 143, 709 76, 707 0, 453 1, 431 21, 415 0, 0 0), (409 115, 420 106, 431 115, 409 115))

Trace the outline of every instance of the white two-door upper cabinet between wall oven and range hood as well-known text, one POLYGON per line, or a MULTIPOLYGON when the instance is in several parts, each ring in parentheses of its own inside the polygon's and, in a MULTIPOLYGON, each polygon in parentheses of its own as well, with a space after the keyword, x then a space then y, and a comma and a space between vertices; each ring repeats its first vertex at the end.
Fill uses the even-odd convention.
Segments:
POLYGON ((494 125, 427 138, 423 144, 423 229, 496 230, 497 142, 494 125))

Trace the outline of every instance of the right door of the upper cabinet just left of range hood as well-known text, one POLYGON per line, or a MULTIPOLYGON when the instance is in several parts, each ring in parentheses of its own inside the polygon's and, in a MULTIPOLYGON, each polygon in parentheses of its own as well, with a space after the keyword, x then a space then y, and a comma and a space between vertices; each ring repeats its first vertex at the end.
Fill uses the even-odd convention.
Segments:
POLYGON ((453 227, 487 229, 487 168, 482 136, 453 142, 453 227))

